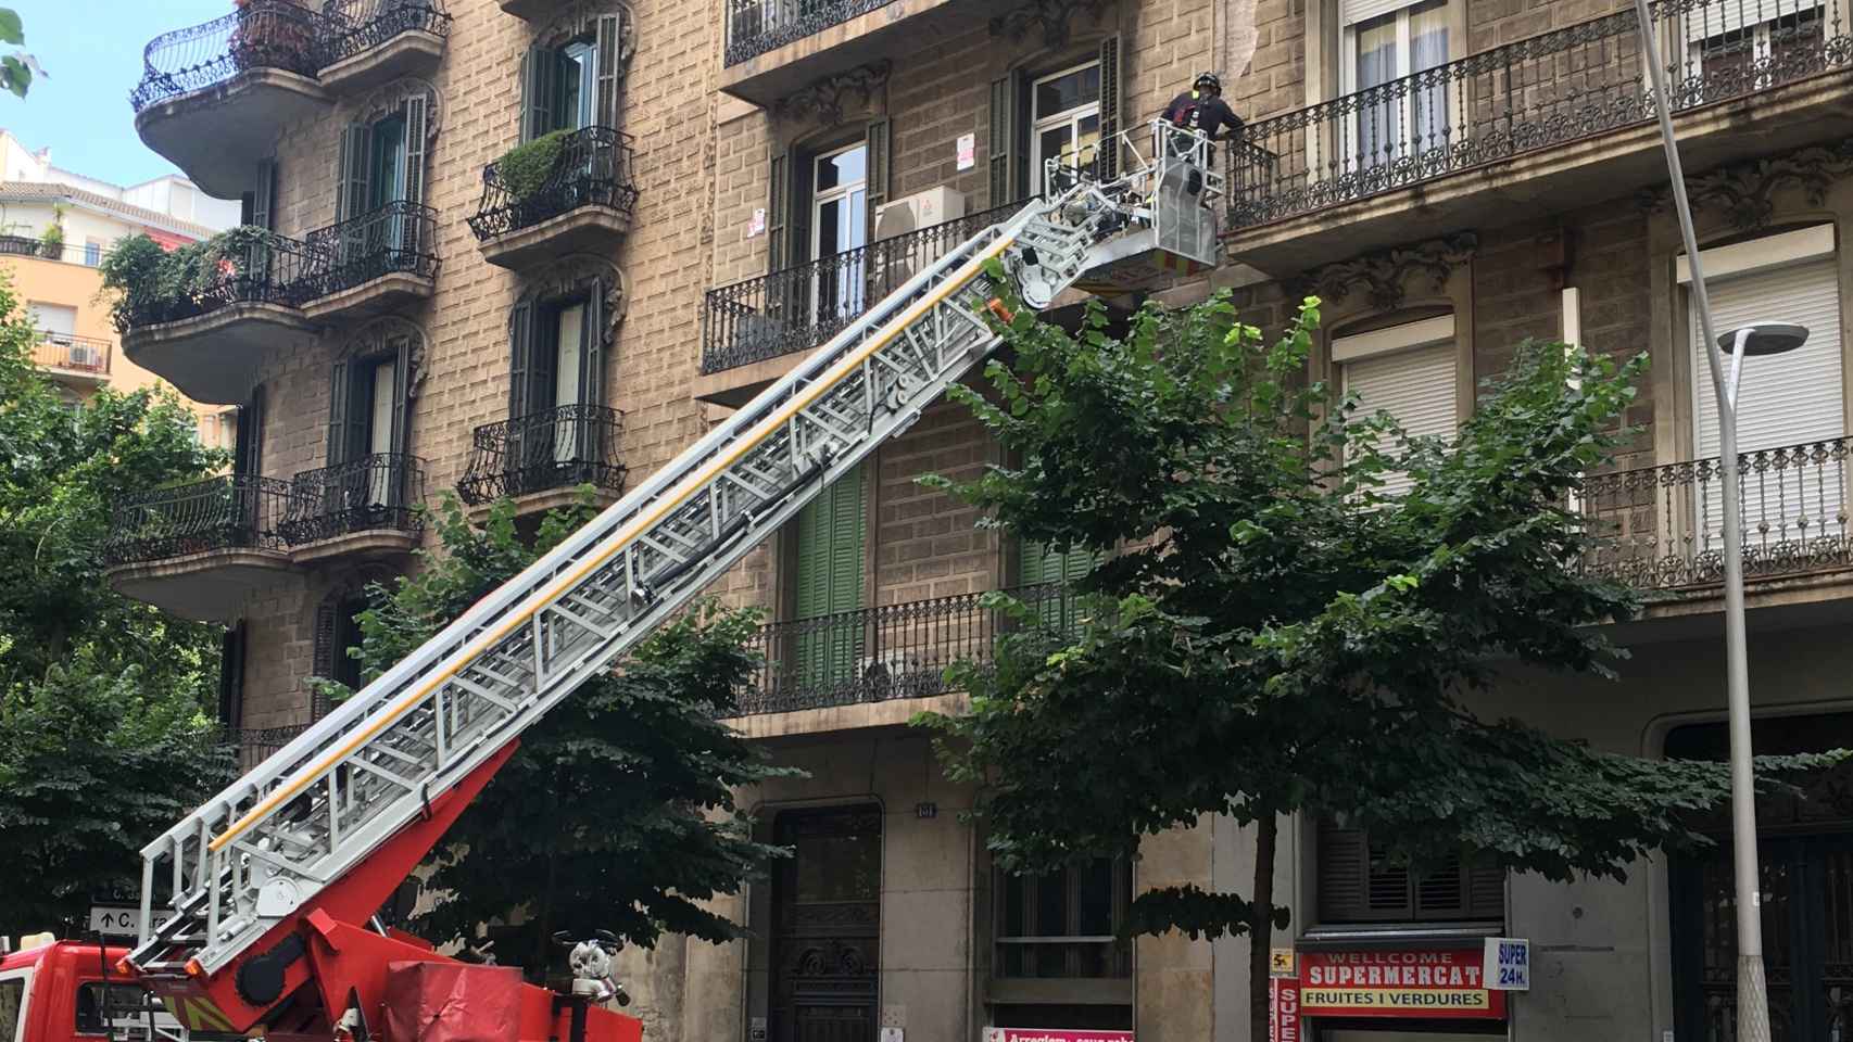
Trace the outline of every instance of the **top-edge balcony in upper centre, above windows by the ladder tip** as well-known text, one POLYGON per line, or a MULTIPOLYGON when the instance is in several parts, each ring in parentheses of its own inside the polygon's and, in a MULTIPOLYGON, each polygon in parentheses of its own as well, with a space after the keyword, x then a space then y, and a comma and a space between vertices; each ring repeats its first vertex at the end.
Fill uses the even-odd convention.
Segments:
POLYGON ((773 107, 817 80, 984 26, 999 9, 980 0, 726 0, 721 89, 773 107))

